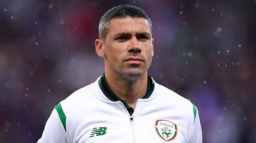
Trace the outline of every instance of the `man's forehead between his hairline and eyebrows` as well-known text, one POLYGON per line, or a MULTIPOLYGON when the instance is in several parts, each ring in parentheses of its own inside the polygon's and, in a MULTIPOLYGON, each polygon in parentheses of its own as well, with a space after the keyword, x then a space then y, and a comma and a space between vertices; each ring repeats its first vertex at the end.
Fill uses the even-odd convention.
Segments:
POLYGON ((151 34, 149 22, 144 18, 116 18, 110 21, 108 37, 117 33, 140 33, 147 32, 151 34))

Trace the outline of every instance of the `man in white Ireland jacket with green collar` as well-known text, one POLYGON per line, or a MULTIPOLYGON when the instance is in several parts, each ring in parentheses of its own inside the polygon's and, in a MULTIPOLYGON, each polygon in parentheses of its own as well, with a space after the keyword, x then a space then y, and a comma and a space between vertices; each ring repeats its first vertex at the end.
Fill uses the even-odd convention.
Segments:
POLYGON ((39 143, 202 143, 197 108, 147 75, 154 52, 146 13, 120 5, 100 20, 105 73, 54 107, 39 143))

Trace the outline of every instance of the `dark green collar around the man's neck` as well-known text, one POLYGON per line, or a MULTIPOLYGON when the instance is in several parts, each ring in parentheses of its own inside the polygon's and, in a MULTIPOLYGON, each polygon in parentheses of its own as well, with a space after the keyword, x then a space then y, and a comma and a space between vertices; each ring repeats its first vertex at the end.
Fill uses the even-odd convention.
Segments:
MULTIPOLYGON (((125 100, 120 99, 109 87, 109 84, 106 81, 105 73, 101 76, 99 80, 99 86, 104 95, 111 101, 121 101, 124 106, 127 108, 130 115, 133 114, 134 110, 130 107, 125 100)), ((147 75, 147 92, 143 99, 148 99, 152 92, 154 91, 155 84, 153 83, 151 77, 147 75)))

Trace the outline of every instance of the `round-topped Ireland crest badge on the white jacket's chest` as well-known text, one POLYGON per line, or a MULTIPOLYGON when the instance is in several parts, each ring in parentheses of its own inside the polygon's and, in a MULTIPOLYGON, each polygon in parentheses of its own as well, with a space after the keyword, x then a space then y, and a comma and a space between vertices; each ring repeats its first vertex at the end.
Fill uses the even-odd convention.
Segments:
POLYGON ((155 128, 158 136, 165 141, 171 141, 177 136, 177 125, 171 121, 156 120, 155 128))

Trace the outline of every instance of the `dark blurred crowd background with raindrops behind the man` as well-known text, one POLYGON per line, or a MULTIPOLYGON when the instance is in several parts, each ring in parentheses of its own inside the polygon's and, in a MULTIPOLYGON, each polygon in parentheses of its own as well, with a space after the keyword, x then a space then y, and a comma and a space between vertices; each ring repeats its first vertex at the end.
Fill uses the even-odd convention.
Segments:
POLYGON ((148 74, 197 106, 203 142, 255 143, 256 0, 0 0, 0 142, 36 142, 104 73, 98 23, 119 4, 152 20, 148 74))

